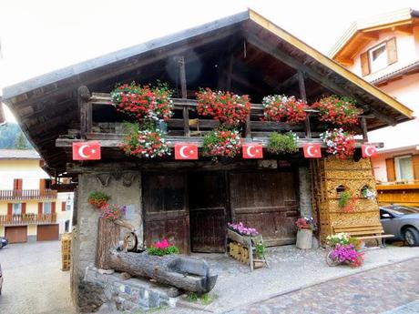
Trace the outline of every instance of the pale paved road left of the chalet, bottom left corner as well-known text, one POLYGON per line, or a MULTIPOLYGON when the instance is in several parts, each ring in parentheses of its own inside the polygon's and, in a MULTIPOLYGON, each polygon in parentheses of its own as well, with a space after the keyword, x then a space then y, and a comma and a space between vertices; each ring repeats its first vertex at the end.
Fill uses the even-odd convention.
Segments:
POLYGON ((73 314, 69 272, 60 270, 60 242, 11 244, 0 249, 5 282, 1 314, 73 314))

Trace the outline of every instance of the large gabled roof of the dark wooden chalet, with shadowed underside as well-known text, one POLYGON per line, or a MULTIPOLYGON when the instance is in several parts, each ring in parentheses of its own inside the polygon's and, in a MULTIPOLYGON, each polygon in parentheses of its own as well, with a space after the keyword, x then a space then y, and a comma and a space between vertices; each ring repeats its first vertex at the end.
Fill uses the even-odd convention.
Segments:
POLYGON ((77 128, 77 88, 109 92, 116 83, 157 79, 178 88, 173 59, 179 55, 185 56, 190 95, 209 86, 249 94, 254 102, 274 93, 298 96, 301 71, 309 101, 353 96, 372 115, 370 130, 412 118, 409 108, 252 10, 5 87, 4 102, 48 167, 64 171, 66 154, 55 143, 77 128))

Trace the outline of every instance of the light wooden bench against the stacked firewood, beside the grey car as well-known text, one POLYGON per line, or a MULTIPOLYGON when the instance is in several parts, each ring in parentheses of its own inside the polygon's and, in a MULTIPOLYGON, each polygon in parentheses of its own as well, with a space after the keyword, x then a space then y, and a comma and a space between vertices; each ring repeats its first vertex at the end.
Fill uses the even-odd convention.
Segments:
POLYGON ((374 238, 377 241, 377 245, 385 247, 385 239, 393 238, 394 235, 384 235, 384 229, 382 224, 370 224, 360 226, 335 226, 333 227, 334 233, 347 233, 350 236, 359 239, 374 238))

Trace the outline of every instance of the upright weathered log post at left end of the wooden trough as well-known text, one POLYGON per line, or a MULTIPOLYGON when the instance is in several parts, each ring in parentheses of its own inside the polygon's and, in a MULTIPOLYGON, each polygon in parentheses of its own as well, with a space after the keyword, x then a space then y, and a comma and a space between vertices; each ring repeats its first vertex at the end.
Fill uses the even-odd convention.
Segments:
POLYGON ((99 218, 97 230, 97 268, 111 269, 108 265, 109 249, 118 247, 119 232, 120 227, 113 221, 99 218))

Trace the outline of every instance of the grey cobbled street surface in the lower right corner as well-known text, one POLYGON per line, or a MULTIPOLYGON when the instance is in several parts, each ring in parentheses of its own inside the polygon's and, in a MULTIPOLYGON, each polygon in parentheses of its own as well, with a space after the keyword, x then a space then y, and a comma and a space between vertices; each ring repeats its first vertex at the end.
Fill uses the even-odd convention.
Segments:
POLYGON ((419 258, 323 282, 228 313, 419 313, 419 258))

